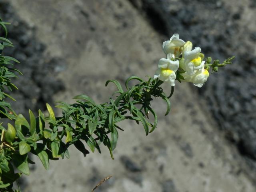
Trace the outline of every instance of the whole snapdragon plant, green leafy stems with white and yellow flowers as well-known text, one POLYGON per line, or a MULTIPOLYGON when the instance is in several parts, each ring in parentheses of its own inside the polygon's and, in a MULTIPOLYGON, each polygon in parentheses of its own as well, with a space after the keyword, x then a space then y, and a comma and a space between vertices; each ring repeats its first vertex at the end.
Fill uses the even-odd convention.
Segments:
POLYGON ((103 144, 114 159, 113 151, 118 134, 124 131, 124 128, 118 126, 119 122, 134 120, 137 124, 142 124, 148 135, 154 131, 158 122, 150 105, 153 98, 160 97, 166 102, 167 115, 170 112, 169 98, 174 92, 176 80, 192 82, 201 87, 209 77, 210 67, 216 72, 218 67, 230 64, 234 58, 228 58, 220 64, 218 60, 212 62, 208 57, 205 62, 199 47, 192 50, 191 42, 184 42, 179 39, 178 34, 174 34, 169 41, 163 43, 166 58, 160 59, 154 77, 148 76, 144 80, 131 76, 126 80, 125 88, 116 80, 108 80, 106 86, 113 83, 117 90, 106 103, 98 104, 89 96, 81 94, 74 97, 74 104, 57 102, 55 107, 62 110, 61 116, 56 116, 52 107, 46 104, 48 112, 39 110, 38 114, 34 114, 29 110, 30 119, 27 120, 22 114, 16 114, 6 101, 8 98, 15 100, 6 93, 6 89, 18 89, 12 79, 17 74, 22 75, 14 66, 19 63, 18 60, 4 55, 4 48, 13 46, 7 39, 8 24, 0 19, 1 33, 4 34, 0 37, 0 118, 10 120, 7 127, 0 123, 0 191, 14 191, 13 183, 22 174, 30 174, 28 164, 34 162, 28 156, 29 153, 38 156, 47 170, 49 160, 69 158, 68 149, 71 145, 85 157, 89 150, 100 153, 100 144, 103 144), (137 83, 129 86, 130 81, 137 83), (164 82, 171 87, 168 95, 160 87, 164 82), (148 118, 149 114, 154 117, 152 121, 148 118))

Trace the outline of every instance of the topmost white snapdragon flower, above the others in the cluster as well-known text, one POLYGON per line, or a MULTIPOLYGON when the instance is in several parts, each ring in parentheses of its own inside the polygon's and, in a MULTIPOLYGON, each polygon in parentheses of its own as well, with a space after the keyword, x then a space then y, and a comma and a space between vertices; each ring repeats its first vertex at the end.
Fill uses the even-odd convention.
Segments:
POLYGON ((181 47, 185 44, 183 40, 179 38, 179 34, 174 34, 170 41, 163 43, 163 50, 168 59, 175 58, 181 55, 181 47))

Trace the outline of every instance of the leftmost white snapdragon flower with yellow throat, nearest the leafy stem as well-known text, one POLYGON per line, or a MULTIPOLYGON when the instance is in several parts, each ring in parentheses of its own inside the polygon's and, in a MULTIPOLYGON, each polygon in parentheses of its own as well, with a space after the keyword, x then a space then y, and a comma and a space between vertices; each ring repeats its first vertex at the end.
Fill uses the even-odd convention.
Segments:
POLYGON ((158 69, 154 75, 154 79, 158 78, 161 81, 169 82, 171 86, 174 86, 176 79, 175 72, 179 68, 179 61, 172 61, 170 59, 160 59, 158 62, 158 69))

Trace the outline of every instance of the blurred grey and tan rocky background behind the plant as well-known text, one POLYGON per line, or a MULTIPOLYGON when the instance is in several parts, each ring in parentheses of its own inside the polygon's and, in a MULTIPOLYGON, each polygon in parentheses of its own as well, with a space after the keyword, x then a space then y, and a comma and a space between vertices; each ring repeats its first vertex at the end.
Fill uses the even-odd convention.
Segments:
POLYGON ((23 191, 90 191, 108 175, 96 191, 256 191, 255 0, 0 0, 0 17, 12 23, 5 54, 21 62, 13 106, 24 114, 81 93, 105 102, 106 80, 154 74, 173 33, 213 59, 236 56, 200 89, 176 83, 168 116, 156 100, 149 136, 122 123, 115 160, 104 146, 86 158, 73 149, 49 171, 34 158, 23 191))

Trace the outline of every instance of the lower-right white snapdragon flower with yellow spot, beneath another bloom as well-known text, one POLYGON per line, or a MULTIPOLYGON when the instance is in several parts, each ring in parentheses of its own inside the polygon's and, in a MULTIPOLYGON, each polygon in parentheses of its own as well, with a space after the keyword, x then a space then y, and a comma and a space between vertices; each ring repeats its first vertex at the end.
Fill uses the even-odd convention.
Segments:
POLYGON ((209 77, 208 70, 204 69, 204 61, 202 62, 202 64, 203 67, 199 70, 196 70, 196 72, 192 76, 188 75, 187 72, 182 74, 182 76, 184 77, 183 81, 192 82, 195 86, 202 87, 209 77))

